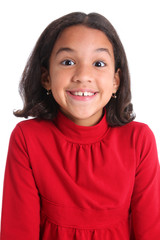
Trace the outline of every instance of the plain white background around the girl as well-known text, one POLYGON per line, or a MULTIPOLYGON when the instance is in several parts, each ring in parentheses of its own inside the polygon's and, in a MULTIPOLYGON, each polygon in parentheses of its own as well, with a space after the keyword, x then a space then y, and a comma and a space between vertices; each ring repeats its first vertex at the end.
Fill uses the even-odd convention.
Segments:
POLYGON ((116 28, 131 74, 136 120, 153 130, 160 155, 160 14, 158 0, 5 0, 0 4, 0 205, 8 142, 22 119, 18 83, 27 58, 44 28, 74 11, 98 12, 116 28))

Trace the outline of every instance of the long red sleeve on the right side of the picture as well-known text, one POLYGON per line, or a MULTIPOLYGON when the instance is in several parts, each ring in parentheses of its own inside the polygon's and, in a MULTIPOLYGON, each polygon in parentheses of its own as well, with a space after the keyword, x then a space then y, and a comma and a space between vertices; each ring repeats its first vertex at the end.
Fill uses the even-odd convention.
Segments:
POLYGON ((137 169, 131 201, 136 240, 160 239, 160 168, 155 138, 146 126, 137 141, 137 169))

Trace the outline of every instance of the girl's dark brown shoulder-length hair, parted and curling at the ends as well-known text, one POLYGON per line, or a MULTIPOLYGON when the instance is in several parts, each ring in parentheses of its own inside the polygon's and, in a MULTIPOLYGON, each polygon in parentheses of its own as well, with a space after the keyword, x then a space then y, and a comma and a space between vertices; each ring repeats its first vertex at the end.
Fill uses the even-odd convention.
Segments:
POLYGON ((81 12, 70 13, 53 21, 41 34, 22 74, 19 91, 24 106, 22 110, 14 112, 15 116, 25 118, 32 116, 40 119, 53 119, 56 116, 59 106, 52 94, 47 95, 42 87, 41 71, 42 67, 49 69, 50 55, 59 34, 65 28, 78 24, 104 32, 113 46, 115 72, 120 69, 120 86, 117 98, 111 98, 105 106, 109 125, 121 126, 135 118, 131 104, 127 58, 117 32, 102 15, 81 12))

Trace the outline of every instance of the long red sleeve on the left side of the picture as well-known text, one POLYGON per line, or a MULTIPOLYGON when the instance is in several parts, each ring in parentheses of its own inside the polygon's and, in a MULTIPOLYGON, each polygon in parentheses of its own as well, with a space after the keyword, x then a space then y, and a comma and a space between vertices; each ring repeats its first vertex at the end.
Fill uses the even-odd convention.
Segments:
POLYGON ((38 240, 40 200, 20 127, 13 130, 6 162, 1 240, 38 240))

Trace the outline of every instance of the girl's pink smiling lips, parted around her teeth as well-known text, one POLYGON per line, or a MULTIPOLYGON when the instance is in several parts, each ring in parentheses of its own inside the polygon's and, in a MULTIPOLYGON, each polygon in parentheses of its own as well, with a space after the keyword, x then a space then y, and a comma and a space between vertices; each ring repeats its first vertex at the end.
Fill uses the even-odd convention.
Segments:
POLYGON ((76 89, 72 89, 72 90, 67 90, 67 94, 73 100, 90 101, 97 96, 98 91, 95 91, 93 89, 77 89, 76 88, 76 89), (94 93, 94 95, 92 95, 92 96, 77 96, 77 95, 73 95, 72 92, 91 92, 91 93, 94 93))

